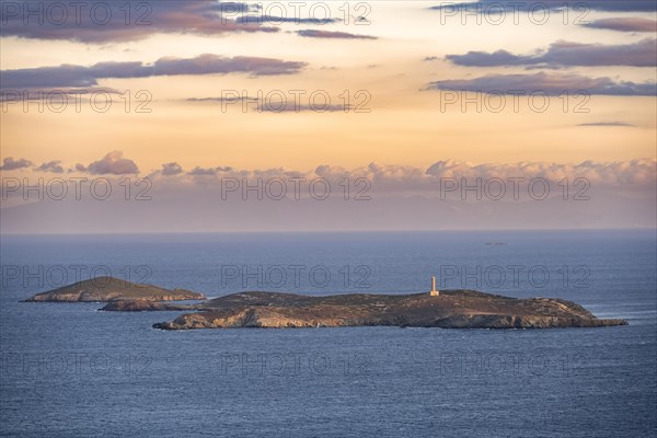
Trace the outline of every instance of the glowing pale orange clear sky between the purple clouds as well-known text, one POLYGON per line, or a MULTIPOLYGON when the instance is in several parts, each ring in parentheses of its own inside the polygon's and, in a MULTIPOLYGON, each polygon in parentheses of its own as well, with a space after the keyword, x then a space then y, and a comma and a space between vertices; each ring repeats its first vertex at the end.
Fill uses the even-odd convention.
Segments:
MULTIPOLYGON (((150 170, 165 161, 184 166, 311 169, 319 164, 358 166, 371 161, 422 166, 441 158, 579 162, 655 157, 654 97, 592 96, 584 106, 588 113, 575 113, 574 107, 564 112, 563 101, 553 96, 550 108, 541 114, 532 112, 527 102, 512 111, 509 100, 502 113, 486 107, 477 113, 474 105, 463 112, 458 104, 441 111, 440 92, 422 90, 436 80, 526 71, 523 67, 453 66, 441 59, 448 54, 498 49, 531 54, 555 41, 629 44, 645 38, 645 34, 564 25, 556 13, 545 25, 532 24, 527 18, 521 18, 518 25, 510 19, 502 25, 489 25, 486 20, 477 25, 475 18, 466 18, 469 23, 462 25, 451 16, 439 25, 438 13, 427 11, 434 4, 430 2, 370 4, 369 25, 337 23, 321 28, 378 39, 302 38, 291 32, 309 25, 295 23, 284 24, 284 32, 277 34, 153 34, 138 42, 101 45, 2 38, 3 70, 102 61, 152 62, 165 56, 189 58, 208 53, 274 57, 308 66, 297 74, 258 78, 233 73, 101 79, 100 87, 129 90, 132 101, 139 90, 148 90, 153 96, 148 105, 152 112, 137 114, 132 107, 126 114, 124 102, 116 95, 113 108, 105 114, 96 114, 88 105, 77 113, 72 104, 61 114, 39 114, 31 104, 25 114, 20 105, 13 105, 2 114, 1 158, 73 164, 120 149, 150 170), (429 56, 438 59, 425 61, 429 56), (289 90, 303 90, 307 96, 325 90, 333 104, 344 103, 339 95, 345 90, 353 103, 364 102, 365 97, 356 100, 354 94, 365 90, 371 95, 366 105, 371 112, 244 114, 241 105, 234 104, 223 113, 217 102, 185 101, 218 97, 227 90, 245 90, 249 95, 281 90, 289 99, 293 99, 289 90), (631 126, 578 126, 600 122, 631 126)), ((609 15, 591 11, 587 20, 609 15)), ((567 72, 633 81, 655 77, 654 69, 641 67, 573 67, 567 72)), ((308 104, 302 99, 304 102, 308 104)))

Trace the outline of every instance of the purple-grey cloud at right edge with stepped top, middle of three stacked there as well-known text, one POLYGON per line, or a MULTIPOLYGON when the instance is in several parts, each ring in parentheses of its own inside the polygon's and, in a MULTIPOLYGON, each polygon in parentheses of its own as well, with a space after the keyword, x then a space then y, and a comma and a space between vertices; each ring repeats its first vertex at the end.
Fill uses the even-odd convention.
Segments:
POLYGON ((544 53, 514 55, 507 50, 494 53, 469 51, 465 55, 447 55, 447 60, 468 67, 500 66, 632 66, 657 65, 657 39, 643 39, 623 45, 579 44, 556 42, 544 53))

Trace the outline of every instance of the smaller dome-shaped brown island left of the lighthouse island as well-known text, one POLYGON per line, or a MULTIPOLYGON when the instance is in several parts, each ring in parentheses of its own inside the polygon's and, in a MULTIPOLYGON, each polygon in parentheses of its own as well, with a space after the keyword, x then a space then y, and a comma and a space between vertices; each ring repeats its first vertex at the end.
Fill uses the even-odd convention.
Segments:
MULTIPOLYGON (((206 296, 185 289, 164 289, 114 277, 95 277, 27 298, 26 302, 159 302, 205 300, 206 296)), ((152 309, 154 310, 154 309, 152 309)))

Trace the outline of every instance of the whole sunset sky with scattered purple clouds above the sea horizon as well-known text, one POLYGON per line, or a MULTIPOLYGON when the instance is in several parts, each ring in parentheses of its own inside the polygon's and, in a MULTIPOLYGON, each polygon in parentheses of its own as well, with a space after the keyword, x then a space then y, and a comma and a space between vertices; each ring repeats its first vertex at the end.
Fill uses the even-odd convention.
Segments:
POLYGON ((656 227, 654 1, 0 4, 2 233, 656 227))

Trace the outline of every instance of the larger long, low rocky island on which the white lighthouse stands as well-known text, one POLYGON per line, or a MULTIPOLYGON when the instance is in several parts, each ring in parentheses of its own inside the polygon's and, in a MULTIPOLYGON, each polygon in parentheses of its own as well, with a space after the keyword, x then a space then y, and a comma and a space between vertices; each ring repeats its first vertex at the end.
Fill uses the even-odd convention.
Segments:
MULTIPOLYGON (((437 292, 437 291, 434 291, 437 292)), ((518 299, 474 290, 412 295, 311 297, 240 292, 194 306, 195 313, 154 324, 162 330, 392 325, 441 328, 549 328, 626 325, 601 320, 556 298, 518 299)), ((162 307, 158 310, 168 310, 162 307)), ((171 309, 177 310, 177 309, 171 309)))

